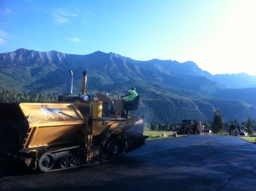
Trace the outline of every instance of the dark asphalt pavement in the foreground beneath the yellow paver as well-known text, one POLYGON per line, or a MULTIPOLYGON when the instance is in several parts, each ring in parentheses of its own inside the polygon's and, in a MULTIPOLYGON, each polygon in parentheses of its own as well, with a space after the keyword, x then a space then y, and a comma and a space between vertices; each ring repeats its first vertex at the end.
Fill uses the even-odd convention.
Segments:
POLYGON ((146 141, 116 161, 51 173, 0 162, 0 191, 253 191, 256 144, 229 136, 146 141))

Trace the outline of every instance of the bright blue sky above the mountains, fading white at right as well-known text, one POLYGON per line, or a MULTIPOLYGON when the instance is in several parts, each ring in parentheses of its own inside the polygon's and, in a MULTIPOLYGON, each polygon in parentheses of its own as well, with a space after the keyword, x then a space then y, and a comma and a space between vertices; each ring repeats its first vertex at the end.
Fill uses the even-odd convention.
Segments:
POLYGON ((256 74, 256 0, 0 0, 0 53, 18 48, 256 74))

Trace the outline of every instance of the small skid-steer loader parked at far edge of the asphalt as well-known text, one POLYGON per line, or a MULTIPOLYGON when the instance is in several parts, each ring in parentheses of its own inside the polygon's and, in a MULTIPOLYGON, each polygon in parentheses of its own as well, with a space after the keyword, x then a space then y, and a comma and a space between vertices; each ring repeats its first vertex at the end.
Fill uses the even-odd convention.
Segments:
POLYGON ((182 120, 182 125, 178 129, 177 135, 199 135, 200 133, 202 133, 200 121, 182 120))

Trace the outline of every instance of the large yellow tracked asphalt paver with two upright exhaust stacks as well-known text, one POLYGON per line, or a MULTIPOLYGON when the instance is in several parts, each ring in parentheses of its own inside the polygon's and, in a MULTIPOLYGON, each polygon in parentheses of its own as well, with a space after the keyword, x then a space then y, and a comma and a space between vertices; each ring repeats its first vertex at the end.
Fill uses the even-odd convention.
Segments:
POLYGON ((61 103, 0 103, 0 152, 33 170, 76 168, 114 159, 145 144, 143 117, 129 116, 139 97, 125 105, 114 91, 71 97, 73 73, 66 78, 61 103), (122 116, 122 109, 126 114, 122 116))

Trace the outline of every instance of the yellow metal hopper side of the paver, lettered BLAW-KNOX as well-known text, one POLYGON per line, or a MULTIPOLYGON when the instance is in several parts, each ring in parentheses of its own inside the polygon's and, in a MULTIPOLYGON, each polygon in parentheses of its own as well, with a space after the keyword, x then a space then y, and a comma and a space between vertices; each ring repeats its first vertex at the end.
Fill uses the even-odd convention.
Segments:
POLYGON ((23 143, 25 148, 76 142, 85 128, 85 119, 70 103, 21 103, 20 108, 32 133, 23 143))

